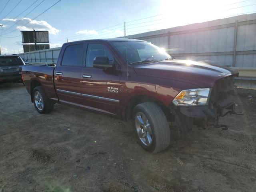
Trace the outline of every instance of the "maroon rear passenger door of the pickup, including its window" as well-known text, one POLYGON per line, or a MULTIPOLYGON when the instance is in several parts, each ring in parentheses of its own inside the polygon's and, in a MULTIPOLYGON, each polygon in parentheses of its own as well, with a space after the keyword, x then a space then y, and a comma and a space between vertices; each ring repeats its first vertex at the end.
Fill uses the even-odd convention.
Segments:
POLYGON ((66 46, 62 60, 54 70, 54 83, 60 102, 82 104, 81 69, 85 44, 66 46))

